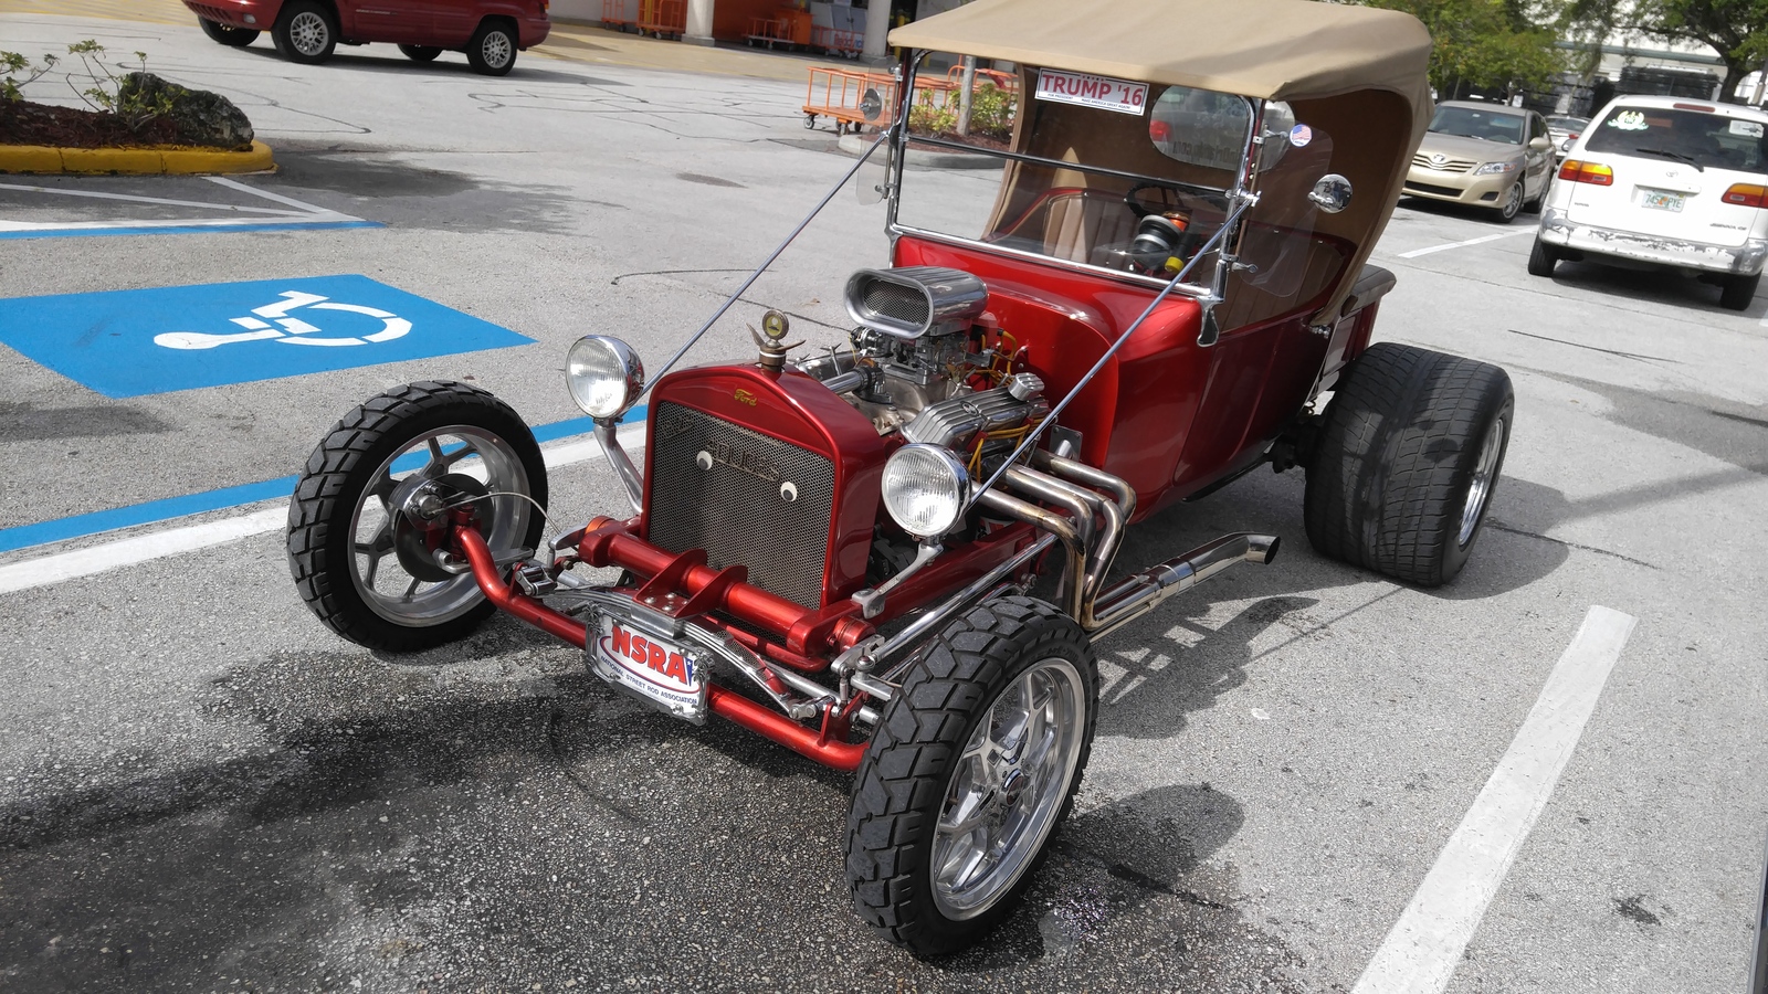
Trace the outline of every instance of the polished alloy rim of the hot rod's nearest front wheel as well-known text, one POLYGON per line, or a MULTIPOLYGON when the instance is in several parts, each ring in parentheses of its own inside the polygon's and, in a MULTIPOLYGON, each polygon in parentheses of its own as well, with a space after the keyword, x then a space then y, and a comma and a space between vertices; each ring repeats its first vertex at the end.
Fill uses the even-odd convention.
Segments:
POLYGON ((988 707, 964 746, 934 831, 934 902, 953 920, 992 907, 1061 814, 1086 725, 1080 672, 1041 660, 988 707))

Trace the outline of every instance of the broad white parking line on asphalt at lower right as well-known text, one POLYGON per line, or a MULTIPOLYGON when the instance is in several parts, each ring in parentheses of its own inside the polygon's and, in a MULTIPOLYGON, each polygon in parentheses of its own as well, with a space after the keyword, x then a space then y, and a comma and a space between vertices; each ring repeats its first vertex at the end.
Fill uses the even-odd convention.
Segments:
POLYGON ((1547 807, 1639 619, 1593 605, 1497 769, 1351 994, 1441 994, 1547 807))

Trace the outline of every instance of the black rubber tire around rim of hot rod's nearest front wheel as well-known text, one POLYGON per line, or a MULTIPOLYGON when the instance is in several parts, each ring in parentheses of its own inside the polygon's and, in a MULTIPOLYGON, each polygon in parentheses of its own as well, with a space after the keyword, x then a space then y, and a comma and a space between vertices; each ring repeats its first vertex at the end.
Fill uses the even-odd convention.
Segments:
POLYGON ((1086 633, 1068 616, 1033 598, 1001 598, 953 623, 886 706, 854 780, 847 883, 859 916, 921 957, 962 950, 999 925, 1031 884, 1073 808, 1096 715, 1098 665, 1086 633), (1054 656, 1075 663, 1086 700, 1078 761, 1061 808, 1040 853, 1011 890, 972 918, 946 918, 928 875, 946 780, 994 700, 1018 674, 1054 656))

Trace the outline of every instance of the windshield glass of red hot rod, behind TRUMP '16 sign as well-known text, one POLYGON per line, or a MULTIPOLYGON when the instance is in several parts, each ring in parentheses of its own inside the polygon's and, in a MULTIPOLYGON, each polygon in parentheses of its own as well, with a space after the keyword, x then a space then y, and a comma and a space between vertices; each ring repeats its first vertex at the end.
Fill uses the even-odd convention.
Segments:
POLYGON ((916 78, 900 226, 1165 281, 1227 218, 1245 97, 983 64, 965 108, 962 62, 942 65, 916 78))

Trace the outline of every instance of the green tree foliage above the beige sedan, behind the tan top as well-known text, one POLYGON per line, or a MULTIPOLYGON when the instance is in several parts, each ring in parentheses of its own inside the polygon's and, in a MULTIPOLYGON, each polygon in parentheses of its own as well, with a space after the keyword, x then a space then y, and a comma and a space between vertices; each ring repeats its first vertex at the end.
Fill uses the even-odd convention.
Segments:
POLYGON ((1443 97, 1464 85, 1506 92, 1540 87, 1565 69, 1554 34, 1536 23, 1538 11, 1529 0, 1361 2, 1423 21, 1432 39, 1430 85, 1443 97))

